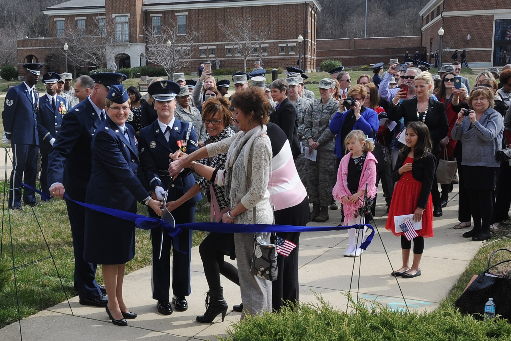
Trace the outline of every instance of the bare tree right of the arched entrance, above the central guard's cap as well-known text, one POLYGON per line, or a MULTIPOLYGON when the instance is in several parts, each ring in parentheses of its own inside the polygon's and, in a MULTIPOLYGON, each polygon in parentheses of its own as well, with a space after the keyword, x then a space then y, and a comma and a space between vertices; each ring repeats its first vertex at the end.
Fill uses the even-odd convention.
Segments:
POLYGON ((179 70, 190 64, 190 57, 194 51, 194 43, 200 33, 189 31, 187 34, 178 34, 178 26, 172 28, 161 26, 159 30, 144 27, 146 36, 146 59, 165 69, 167 76, 172 77, 174 70, 179 70))

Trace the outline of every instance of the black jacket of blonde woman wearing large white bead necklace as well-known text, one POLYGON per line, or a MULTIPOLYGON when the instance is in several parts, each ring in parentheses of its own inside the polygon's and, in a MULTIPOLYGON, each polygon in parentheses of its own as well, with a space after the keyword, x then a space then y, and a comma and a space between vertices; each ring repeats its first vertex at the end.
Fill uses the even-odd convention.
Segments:
MULTIPOLYGON (((399 121, 404 118, 405 125, 411 121, 422 121, 422 117, 417 118, 417 97, 405 99, 401 105, 396 108, 390 105, 388 108, 388 119, 391 121, 399 121)), ((449 132, 449 123, 447 122, 447 114, 444 103, 429 99, 428 113, 424 122, 429 129, 431 142, 433 144, 433 154, 437 154, 442 150, 440 140, 447 136, 449 132)))

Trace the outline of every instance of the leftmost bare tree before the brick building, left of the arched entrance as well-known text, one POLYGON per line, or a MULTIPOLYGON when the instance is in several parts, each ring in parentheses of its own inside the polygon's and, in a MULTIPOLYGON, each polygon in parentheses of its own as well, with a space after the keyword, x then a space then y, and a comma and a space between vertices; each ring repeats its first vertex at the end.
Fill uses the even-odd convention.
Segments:
MULTIPOLYGON (((109 55, 114 54, 114 46, 117 42, 117 34, 112 19, 96 19, 87 32, 78 29, 68 20, 64 32, 65 35, 58 37, 61 45, 67 44, 66 52, 69 62, 80 68, 99 68, 103 72, 103 65, 109 55), (101 20, 101 21, 99 21, 101 20)), ((119 53, 119 49, 115 49, 119 53)))

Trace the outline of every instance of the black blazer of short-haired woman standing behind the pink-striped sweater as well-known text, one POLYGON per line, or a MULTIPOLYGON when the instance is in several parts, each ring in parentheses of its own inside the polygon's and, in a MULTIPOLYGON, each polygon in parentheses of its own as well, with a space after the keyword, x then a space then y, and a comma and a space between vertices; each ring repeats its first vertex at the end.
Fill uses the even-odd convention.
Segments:
POLYGON ((289 98, 285 98, 278 106, 278 109, 270 116, 270 122, 278 125, 286 133, 291 146, 291 154, 296 160, 300 154, 300 140, 298 139, 298 117, 296 108, 289 98))

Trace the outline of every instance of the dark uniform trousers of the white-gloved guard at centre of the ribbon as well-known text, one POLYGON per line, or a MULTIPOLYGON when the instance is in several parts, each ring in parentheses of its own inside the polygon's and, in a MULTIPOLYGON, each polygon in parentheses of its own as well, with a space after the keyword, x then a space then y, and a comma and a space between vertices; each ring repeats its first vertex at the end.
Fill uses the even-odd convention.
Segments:
MULTIPOLYGON (((155 217, 154 211, 148 207, 149 215, 155 217)), ((176 224, 193 223, 195 220, 195 205, 180 207, 172 211, 176 224)), ((151 230, 152 244, 152 297, 154 300, 167 301, 170 294, 170 251, 174 240, 167 233, 163 233, 161 258, 159 258, 161 228, 151 230)), ((174 250, 172 258, 172 291, 176 296, 188 296, 192 292, 190 287, 190 262, 192 260, 193 231, 182 229, 179 234, 179 250, 174 250)))

